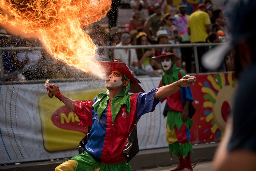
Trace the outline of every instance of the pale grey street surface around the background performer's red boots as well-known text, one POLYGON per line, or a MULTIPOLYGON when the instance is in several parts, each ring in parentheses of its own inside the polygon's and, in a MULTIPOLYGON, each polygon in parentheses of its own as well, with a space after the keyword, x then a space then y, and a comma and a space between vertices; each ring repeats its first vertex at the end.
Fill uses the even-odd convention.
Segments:
MULTIPOLYGON (((168 167, 157 167, 152 169, 144 169, 144 170, 137 170, 137 171, 170 171, 174 169, 175 166, 168 166, 168 167)), ((193 168, 193 171, 212 171, 212 161, 209 162, 199 162, 197 163, 196 167, 193 168)))

